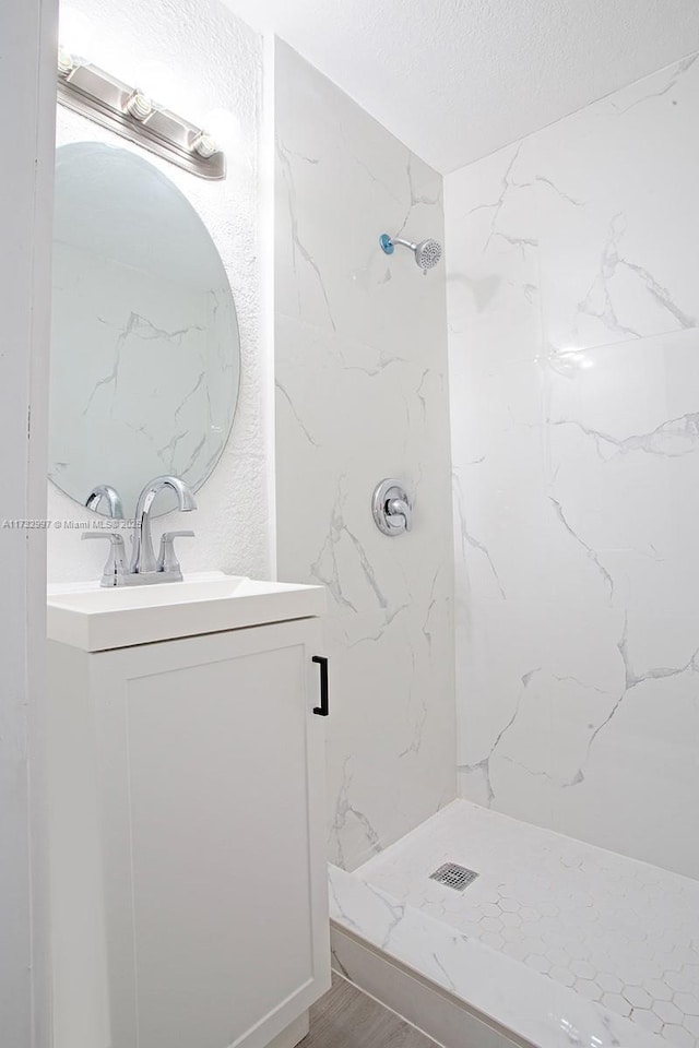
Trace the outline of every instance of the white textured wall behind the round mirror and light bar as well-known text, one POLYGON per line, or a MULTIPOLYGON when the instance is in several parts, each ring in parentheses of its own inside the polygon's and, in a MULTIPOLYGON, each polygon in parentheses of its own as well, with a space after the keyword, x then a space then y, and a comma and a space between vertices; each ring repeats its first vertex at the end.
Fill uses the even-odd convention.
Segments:
MULTIPOLYGON (((223 182, 181 171, 62 107, 58 142, 111 142, 140 152, 185 193, 213 237, 238 312, 240 393, 228 444, 197 496, 199 509, 186 522, 197 537, 182 543, 178 556, 185 571, 225 569, 269 577, 273 406, 266 359, 271 350, 262 337, 261 315, 262 41, 217 0, 183 0, 176 12, 168 0, 69 0, 61 8, 61 40, 194 122, 204 123, 212 110, 224 110, 214 128, 223 123, 229 129, 224 138, 220 134, 228 159, 223 182)), ((107 465, 110 449, 104 454, 107 465)), ((86 521, 91 514, 49 485, 49 517, 86 521)), ((175 520, 175 514, 161 517, 158 526, 171 527, 175 520)), ((81 543, 79 533, 57 527, 48 540, 50 581, 99 576, 105 560, 100 543, 81 543)))

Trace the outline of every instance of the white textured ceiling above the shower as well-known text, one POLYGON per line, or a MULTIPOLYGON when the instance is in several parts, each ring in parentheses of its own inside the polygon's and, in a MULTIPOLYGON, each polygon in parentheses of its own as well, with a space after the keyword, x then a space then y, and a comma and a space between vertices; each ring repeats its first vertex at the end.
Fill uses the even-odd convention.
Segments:
POLYGON ((699 50, 698 0, 226 0, 447 172, 699 50))

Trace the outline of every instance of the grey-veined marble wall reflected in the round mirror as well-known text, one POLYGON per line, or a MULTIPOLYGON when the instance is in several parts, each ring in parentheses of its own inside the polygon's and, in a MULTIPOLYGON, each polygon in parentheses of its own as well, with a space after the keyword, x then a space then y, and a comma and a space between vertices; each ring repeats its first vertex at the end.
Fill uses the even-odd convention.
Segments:
POLYGON ((143 477, 173 473, 196 490, 228 439, 236 403, 229 294, 152 274, 138 282, 74 245, 57 242, 54 254, 62 277, 54 288, 55 354, 81 367, 56 372, 49 476, 84 501, 107 468, 127 515, 143 477), (75 317, 80 342, 67 348, 75 317), (105 466, 109 446, 118 454, 105 466))

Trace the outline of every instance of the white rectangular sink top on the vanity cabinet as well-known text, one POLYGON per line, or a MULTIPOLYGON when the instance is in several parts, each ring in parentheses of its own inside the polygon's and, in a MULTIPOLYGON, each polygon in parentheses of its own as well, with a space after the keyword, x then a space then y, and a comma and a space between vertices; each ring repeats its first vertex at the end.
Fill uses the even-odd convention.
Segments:
POLYGON ((323 586, 258 582, 212 571, 182 582, 106 590, 98 582, 48 590, 48 638, 104 652, 200 633, 322 615, 323 586))

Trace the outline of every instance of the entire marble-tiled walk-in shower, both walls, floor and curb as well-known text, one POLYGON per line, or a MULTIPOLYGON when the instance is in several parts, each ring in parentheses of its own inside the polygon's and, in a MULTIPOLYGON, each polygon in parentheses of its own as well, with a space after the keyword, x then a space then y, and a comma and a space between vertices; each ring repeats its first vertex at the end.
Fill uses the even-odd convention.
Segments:
POLYGON ((411 973, 406 1014, 437 987, 459 1048, 696 1048, 699 62, 443 180, 283 45, 276 84, 280 573, 330 592, 335 963, 411 973))

